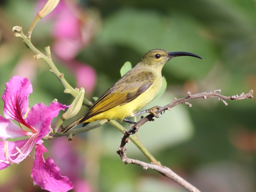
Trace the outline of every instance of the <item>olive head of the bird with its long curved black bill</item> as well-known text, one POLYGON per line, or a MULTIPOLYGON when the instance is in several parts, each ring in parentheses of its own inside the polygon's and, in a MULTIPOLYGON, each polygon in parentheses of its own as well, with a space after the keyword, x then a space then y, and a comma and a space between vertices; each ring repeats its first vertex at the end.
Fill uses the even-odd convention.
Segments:
POLYGON ((192 56, 202 59, 200 56, 189 52, 167 52, 162 49, 153 49, 143 56, 141 62, 148 66, 164 66, 168 60, 179 56, 192 56))

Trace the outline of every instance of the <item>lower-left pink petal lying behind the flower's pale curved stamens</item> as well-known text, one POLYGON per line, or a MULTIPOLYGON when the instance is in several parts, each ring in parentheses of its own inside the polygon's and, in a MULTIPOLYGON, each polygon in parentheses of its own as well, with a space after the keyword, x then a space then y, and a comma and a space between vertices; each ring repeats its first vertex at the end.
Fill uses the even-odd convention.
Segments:
POLYGON ((15 142, 10 142, 10 141, 0 141, 0 170, 14 164, 14 163, 19 163, 24 158, 28 156, 28 154, 31 152, 33 148, 33 144, 29 142, 29 139, 25 140, 19 140, 15 142), (6 146, 8 146, 6 148, 6 146), (26 152, 22 150, 25 154, 20 154, 16 147, 19 149, 24 148, 26 146, 26 152), (6 159, 6 153, 8 155, 8 159, 6 159))

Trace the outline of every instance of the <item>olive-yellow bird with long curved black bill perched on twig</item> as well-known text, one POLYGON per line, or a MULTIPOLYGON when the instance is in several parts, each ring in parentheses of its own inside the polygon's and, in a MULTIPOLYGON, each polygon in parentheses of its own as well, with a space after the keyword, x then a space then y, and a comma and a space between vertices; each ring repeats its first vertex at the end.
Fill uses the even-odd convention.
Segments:
POLYGON ((164 64, 178 56, 202 59, 189 52, 150 50, 134 68, 122 76, 94 103, 87 114, 66 126, 61 132, 66 133, 80 123, 83 123, 84 127, 88 123, 100 119, 122 121, 127 116, 134 116, 134 112, 146 106, 160 90, 164 64))

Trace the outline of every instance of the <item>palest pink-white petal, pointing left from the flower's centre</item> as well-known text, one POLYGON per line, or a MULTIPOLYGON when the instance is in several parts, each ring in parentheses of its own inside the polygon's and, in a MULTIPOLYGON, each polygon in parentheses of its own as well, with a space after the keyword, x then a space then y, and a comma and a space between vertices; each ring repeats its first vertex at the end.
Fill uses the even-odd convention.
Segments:
POLYGON ((31 136, 32 132, 24 131, 10 119, 6 119, 0 115, 0 139, 17 138, 22 136, 31 136))

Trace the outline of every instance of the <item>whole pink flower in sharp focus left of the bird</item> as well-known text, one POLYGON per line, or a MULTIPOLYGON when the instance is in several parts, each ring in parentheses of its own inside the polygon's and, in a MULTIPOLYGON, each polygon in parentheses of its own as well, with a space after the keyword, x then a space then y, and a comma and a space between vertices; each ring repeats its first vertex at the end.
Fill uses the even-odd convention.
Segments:
POLYGON ((50 133, 52 118, 56 117, 60 110, 65 110, 67 106, 59 102, 52 102, 50 106, 39 103, 28 111, 30 93, 32 93, 32 85, 27 78, 13 76, 6 83, 6 90, 2 95, 6 118, 0 116, 0 139, 2 139, 0 141, 0 170, 14 163, 19 164, 36 145, 31 174, 34 183, 51 192, 66 192, 73 188, 73 184, 68 177, 60 174, 60 169, 51 158, 44 161, 43 154, 47 150, 42 144, 42 138, 50 133), (21 129, 10 119, 26 126, 29 131, 21 129), (14 142, 6 141, 7 138, 23 136, 29 138, 14 142))

